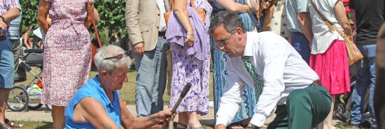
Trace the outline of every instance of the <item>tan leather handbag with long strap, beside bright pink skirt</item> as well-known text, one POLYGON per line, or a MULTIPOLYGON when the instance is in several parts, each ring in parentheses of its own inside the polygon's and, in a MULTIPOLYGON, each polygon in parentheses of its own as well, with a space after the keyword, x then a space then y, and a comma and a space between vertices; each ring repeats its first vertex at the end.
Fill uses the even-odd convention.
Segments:
POLYGON ((331 22, 326 20, 325 17, 323 17, 323 15, 321 15, 319 10, 316 8, 313 1, 311 1, 311 5, 314 7, 314 10, 316 10, 318 15, 321 16, 321 18, 322 18, 323 22, 325 22, 326 26, 328 26, 328 28, 332 31, 337 31, 339 33, 339 35, 341 35, 344 38, 346 50, 348 52, 349 66, 351 66, 353 63, 356 63, 357 61, 360 61, 361 59, 363 59, 363 54, 361 54, 360 50, 358 50, 356 44, 353 43, 353 37, 342 33, 342 31, 339 31, 339 29, 337 29, 337 27, 334 24, 332 24, 331 22))

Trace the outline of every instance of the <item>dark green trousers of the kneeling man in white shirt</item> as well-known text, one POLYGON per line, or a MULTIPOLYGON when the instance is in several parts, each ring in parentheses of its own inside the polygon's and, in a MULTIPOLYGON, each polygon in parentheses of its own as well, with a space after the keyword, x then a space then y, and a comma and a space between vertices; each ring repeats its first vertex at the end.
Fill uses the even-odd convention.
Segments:
POLYGON ((286 105, 276 106, 276 117, 267 129, 311 128, 321 123, 330 112, 332 100, 323 86, 310 86, 291 91, 286 105))

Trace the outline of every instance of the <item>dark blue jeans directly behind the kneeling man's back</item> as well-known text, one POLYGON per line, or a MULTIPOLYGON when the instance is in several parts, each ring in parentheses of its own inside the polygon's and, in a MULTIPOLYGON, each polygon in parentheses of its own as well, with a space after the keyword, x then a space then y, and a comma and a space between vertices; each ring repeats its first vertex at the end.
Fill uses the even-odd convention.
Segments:
POLYGON ((302 59, 306 61, 307 65, 309 65, 310 46, 309 40, 307 40, 304 34, 300 32, 291 33, 291 45, 302 56, 302 59))

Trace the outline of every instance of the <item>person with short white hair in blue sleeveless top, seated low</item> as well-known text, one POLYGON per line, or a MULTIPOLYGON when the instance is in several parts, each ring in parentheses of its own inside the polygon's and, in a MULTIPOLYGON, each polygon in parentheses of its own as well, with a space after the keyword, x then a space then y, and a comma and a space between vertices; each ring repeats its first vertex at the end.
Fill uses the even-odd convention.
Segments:
POLYGON ((65 128, 149 128, 172 115, 166 109, 138 118, 123 105, 118 90, 127 82, 131 60, 122 48, 102 47, 94 59, 99 74, 73 96, 66 108, 65 128))

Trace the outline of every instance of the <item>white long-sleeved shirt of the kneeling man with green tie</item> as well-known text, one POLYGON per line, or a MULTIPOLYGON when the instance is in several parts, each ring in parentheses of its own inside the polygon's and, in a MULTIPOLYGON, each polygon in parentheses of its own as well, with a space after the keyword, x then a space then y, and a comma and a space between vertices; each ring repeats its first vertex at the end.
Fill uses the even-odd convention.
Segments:
MULTIPOLYGON (((300 54, 281 36, 265 31, 247 32, 244 56, 250 56, 255 73, 263 82, 262 94, 255 106, 250 123, 262 126, 276 105, 286 104, 286 98, 294 89, 310 86, 318 75, 311 70, 300 54)), ((241 57, 227 61, 227 82, 216 114, 216 125, 228 126, 239 109, 241 93, 246 84, 254 86, 241 57)))

